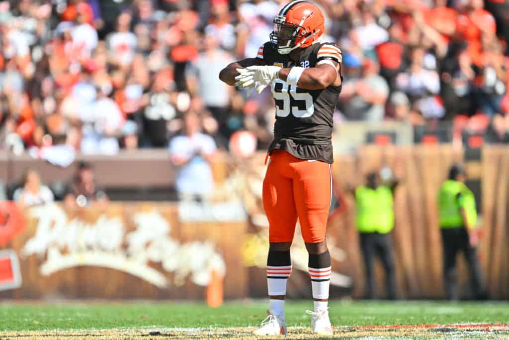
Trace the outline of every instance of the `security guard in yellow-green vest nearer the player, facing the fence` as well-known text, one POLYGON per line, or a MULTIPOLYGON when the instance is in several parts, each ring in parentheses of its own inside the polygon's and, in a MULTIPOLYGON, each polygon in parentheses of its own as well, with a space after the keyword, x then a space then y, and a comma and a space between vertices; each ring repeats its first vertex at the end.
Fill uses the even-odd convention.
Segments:
POLYGON ((389 233, 394 227, 392 194, 398 181, 380 185, 380 176, 376 172, 367 174, 366 181, 365 186, 355 189, 356 224, 366 272, 365 298, 375 298, 374 264, 378 255, 385 269, 388 298, 394 300, 397 299, 397 286, 389 233))

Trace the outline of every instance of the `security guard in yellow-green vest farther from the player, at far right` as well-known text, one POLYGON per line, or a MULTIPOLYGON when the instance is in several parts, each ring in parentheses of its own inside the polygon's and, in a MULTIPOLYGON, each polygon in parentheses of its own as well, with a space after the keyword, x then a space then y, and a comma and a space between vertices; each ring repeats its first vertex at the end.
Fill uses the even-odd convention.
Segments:
POLYGON ((462 251, 470 267, 472 289, 477 299, 485 298, 483 278, 477 261, 478 234, 474 194, 465 185, 465 169, 460 164, 449 170, 438 195, 443 245, 443 272, 447 297, 459 299, 456 258, 462 251))

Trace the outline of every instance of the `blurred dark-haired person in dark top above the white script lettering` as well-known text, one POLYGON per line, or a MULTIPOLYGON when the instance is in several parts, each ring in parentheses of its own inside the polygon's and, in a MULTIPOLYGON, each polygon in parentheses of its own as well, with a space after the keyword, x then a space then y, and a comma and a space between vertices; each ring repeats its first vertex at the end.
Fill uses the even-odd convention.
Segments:
POLYGON ((106 193, 95 184, 92 166, 86 162, 80 162, 65 195, 66 205, 83 207, 95 201, 104 203, 107 200, 106 193))

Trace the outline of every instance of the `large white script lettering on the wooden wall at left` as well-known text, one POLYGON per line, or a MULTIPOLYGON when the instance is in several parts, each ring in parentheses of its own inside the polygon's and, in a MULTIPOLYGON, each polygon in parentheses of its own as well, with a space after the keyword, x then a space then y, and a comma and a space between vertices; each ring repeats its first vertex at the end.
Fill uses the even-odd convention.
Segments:
POLYGON ((224 276, 224 260, 211 243, 180 243, 168 235, 171 226, 156 210, 136 212, 135 230, 127 232, 121 218, 101 215, 95 222, 68 220, 58 205, 34 207, 31 217, 37 229, 22 248, 22 255, 46 255, 42 275, 77 266, 96 266, 124 271, 163 288, 171 284, 149 263, 160 263, 175 274, 174 281, 190 276, 206 286, 213 271, 224 276), (124 245, 126 245, 124 247, 124 245))

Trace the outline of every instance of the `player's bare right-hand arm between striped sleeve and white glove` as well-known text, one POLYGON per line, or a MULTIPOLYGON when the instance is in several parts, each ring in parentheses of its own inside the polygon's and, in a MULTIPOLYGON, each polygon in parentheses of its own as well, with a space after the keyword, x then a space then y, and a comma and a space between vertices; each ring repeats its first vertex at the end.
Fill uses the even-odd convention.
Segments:
MULTIPOLYGON (((340 86, 339 67, 337 62, 328 60, 328 63, 306 68, 300 74, 297 87, 306 90, 322 90, 331 85, 340 86)), ((278 74, 279 79, 286 82, 291 70, 292 68, 281 68, 278 74)))

